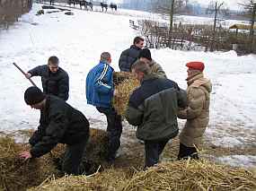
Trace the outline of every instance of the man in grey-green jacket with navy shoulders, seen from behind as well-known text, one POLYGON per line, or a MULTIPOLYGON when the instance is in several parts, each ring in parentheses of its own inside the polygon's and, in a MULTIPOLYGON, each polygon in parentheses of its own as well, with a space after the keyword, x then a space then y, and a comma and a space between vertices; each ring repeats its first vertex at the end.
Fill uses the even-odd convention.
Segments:
POLYGON ((130 96, 126 118, 145 142, 147 168, 158 163, 165 144, 178 135, 178 108, 186 107, 186 93, 176 82, 152 74, 143 61, 132 65, 132 72, 141 86, 130 96))

